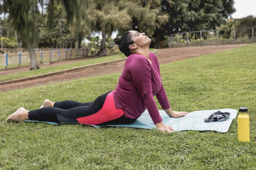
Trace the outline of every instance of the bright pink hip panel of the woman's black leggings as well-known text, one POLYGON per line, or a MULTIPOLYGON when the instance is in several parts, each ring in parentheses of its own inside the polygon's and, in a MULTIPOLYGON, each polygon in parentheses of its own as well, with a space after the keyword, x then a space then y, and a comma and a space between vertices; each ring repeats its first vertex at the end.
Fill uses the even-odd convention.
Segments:
POLYGON ((110 92, 102 106, 102 108, 90 116, 85 116, 82 118, 77 118, 76 120, 82 124, 100 124, 103 122, 108 122, 110 120, 115 120, 124 115, 124 109, 116 108, 114 103, 113 92, 110 92))

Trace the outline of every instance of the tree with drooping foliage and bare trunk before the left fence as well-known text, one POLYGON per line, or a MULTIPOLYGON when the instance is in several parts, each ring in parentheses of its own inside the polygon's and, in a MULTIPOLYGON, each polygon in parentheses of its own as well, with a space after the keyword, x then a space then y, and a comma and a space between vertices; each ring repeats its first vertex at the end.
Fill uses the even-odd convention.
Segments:
MULTIPOLYGON (((66 17, 69 23, 73 20, 79 21, 81 2, 82 0, 56 0, 56 3, 61 3, 67 12, 66 17)), ((45 0, 45 4, 48 4, 49 26, 53 20, 54 3, 54 0, 45 0)), ((30 70, 39 69, 34 48, 39 41, 38 5, 44 4, 43 0, 4 0, 4 4, 9 9, 9 20, 29 50, 30 70)))

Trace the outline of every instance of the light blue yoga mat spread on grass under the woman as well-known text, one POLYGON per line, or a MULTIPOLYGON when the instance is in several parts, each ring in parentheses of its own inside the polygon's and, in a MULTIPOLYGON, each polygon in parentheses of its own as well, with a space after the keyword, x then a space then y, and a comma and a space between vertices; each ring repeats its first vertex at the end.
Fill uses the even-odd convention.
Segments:
MULTIPOLYGON (((163 119, 163 123, 173 127, 175 131, 218 131, 225 133, 229 130, 229 126, 233 119, 236 118, 236 109, 216 109, 216 110, 200 110, 192 111, 184 117, 181 118, 170 118, 164 110, 159 110, 159 113, 163 119), (204 118, 209 117, 212 113, 217 111, 229 112, 230 117, 221 122, 204 122, 204 118)), ((36 120, 25 120, 26 122, 40 122, 36 120)), ((45 122, 49 124, 61 124, 55 122, 45 122)), ((74 122, 76 123, 76 122, 74 122)), ((91 125, 99 128, 100 126, 91 125)), ((131 124, 117 124, 117 125, 106 125, 106 126, 122 126, 122 127, 132 127, 132 128, 143 128, 143 129, 153 129, 156 128, 152 119, 149 116, 148 110, 146 110, 142 115, 131 124)))

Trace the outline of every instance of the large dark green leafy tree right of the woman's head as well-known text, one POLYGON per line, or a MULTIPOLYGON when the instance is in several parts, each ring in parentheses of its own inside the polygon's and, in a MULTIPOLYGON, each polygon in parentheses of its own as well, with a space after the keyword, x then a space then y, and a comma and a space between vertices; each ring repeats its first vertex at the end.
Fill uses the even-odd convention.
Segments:
POLYGON ((179 32, 215 29, 236 11, 234 0, 162 0, 161 6, 170 17, 155 31, 154 36, 160 39, 179 32))

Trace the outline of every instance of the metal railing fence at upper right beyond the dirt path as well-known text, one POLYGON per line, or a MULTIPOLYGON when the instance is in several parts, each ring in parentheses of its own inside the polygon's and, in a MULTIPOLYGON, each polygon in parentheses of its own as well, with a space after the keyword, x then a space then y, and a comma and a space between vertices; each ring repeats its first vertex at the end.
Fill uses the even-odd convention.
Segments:
POLYGON ((232 28, 176 33, 168 36, 169 48, 256 42, 255 28, 232 28))

